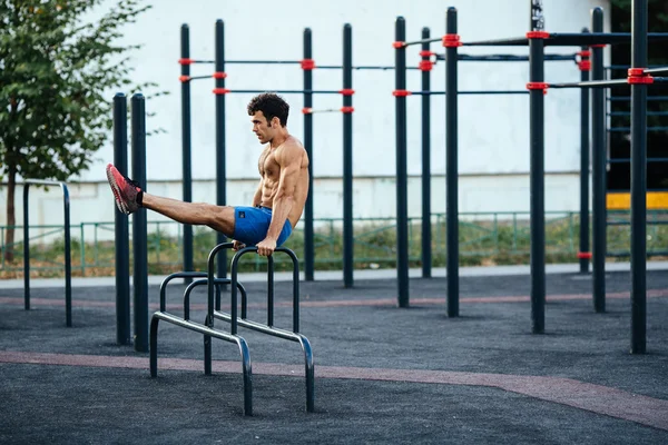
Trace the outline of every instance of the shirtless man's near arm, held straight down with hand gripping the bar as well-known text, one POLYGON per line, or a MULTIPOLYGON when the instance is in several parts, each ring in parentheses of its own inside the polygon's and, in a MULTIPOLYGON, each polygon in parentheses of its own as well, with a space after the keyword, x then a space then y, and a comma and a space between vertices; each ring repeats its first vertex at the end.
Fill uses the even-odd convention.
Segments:
POLYGON ((292 210, 294 204, 295 189, 302 169, 303 151, 296 146, 286 146, 283 152, 276 157, 276 162, 281 166, 281 177, 278 179, 278 190, 274 197, 272 209, 272 222, 267 230, 266 238, 257 244, 259 255, 272 255, 276 248, 276 241, 281 236, 281 230, 285 220, 292 210))

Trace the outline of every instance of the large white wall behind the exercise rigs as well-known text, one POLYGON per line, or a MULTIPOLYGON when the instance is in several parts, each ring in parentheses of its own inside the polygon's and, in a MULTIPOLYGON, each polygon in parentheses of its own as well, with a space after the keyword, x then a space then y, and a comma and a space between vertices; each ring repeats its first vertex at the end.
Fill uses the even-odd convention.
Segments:
MULTIPOLYGON (((106 7, 114 1, 104 3, 106 7)), ((607 0, 544 0, 546 29, 552 32, 579 32, 590 22, 590 10, 607 0)), ((225 21, 227 59, 302 59, 303 30, 313 31, 313 58, 316 65, 341 65, 342 31, 344 23, 353 28, 353 63, 394 63, 394 22, 397 16, 406 20, 409 40, 418 40, 423 27, 431 28, 432 36, 444 33, 445 10, 449 6, 459 10, 459 33, 463 41, 521 37, 529 28, 529 0, 338 0, 336 2, 284 0, 279 3, 257 3, 232 0, 177 0, 153 1, 154 8, 137 23, 125 29, 125 43, 141 43, 144 48, 134 53, 134 79, 136 82, 155 81, 159 89, 170 95, 147 101, 147 110, 157 115, 147 122, 148 129, 164 128, 165 135, 148 140, 147 176, 149 189, 164 190, 179 198, 181 177, 180 146, 180 67, 179 29, 181 23, 190 27, 190 53, 197 59, 214 58, 214 26, 216 19, 225 21), (163 182, 165 181, 165 182, 163 182), (156 186, 161 184, 161 186, 156 186)), ((442 51, 434 43, 432 49, 442 51)), ((416 65, 419 46, 411 47, 407 60, 416 65)), ((577 48, 549 48, 549 53, 577 51, 577 48)), ((463 53, 521 53, 525 48, 462 48, 463 53)), ((191 66, 193 76, 208 75, 213 66, 191 66)), ((228 65, 228 88, 301 89, 302 70, 298 66, 238 66, 228 65)), ((420 71, 409 71, 409 89, 420 89, 420 71)), ((547 81, 576 81, 580 72, 571 62, 548 62, 547 81)), ((460 89, 517 89, 523 90, 528 81, 528 62, 468 62, 460 63, 460 89)), ((367 177, 356 180, 355 197, 373 194, 374 199, 355 201, 355 216, 384 215, 393 208, 395 175, 394 141, 394 89, 393 71, 355 71, 353 97, 354 123, 354 175, 367 177), (392 202, 390 207, 386 207, 392 202), (369 205, 369 207, 366 206, 369 205)), ((214 80, 193 83, 193 178, 196 200, 214 200, 215 178, 215 126, 214 80)), ((341 71, 315 70, 315 89, 340 89, 341 71)), ((444 63, 432 71, 432 88, 444 88, 444 63)), ((109 99, 114 96, 109 92, 109 99)), ((256 162, 261 147, 250 132, 246 113, 249 95, 227 96, 227 175, 238 184, 256 184, 256 162)), ((303 134, 301 95, 286 96, 292 107, 289 130, 303 134)), ((409 174, 421 174, 420 149, 420 98, 409 98, 409 174)), ((340 96, 317 96, 316 108, 341 107, 340 96)), ((445 171, 444 101, 432 99, 432 172, 434 174, 434 211, 444 202, 444 187, 439 186, 445 171)), ((327 197, 340 195, 342 172, 342 118, 341 113, 314 117, 314 174, 316 217, 338 214, 340 205, 327 197), (327 179, 327 178, 331 178, 327 179), (327 184, 327 190, 318 190, 327 184), (334 195, 332 195, 334 194, 334 195), (320 204, 318 204, 320 202, 320 204)), ((547 207, 559 210, 577 209, 579 170, 579 92, 551 90, 546 97, 546 171, 547 207), (551 187, 561 187, 551 189, 551 187), (550 201, 550 197, 559 199, 550 201)), ((460 99, 460 172, 462 181, 462 211, 522 210, 529 201, 529 100, 525 96, 469 96, 460 99), (503 174, 503 176, 494 176, 503 174), (485 177, 492 176, 485 179, 485 177)), ((75 180, 104 181, 104 166, 112 161, 111 142, 97 154, 89 171, 75 180)), ((415 184, 419 180, 415 179, 415 184)), ((81 220, 111 220, 111 194, 106 186, 97 184, 79 187, 86 196, 72 195, 72 222, 81 220), (107 202, 109 201, 109 202, 107 202), (84 204, 86 202, 86 204, 84 204), (104 205, 101 202, 105 202, 104 205), (79 207, 79 208, 77 208, 79 207)), ((239 192, 244 189, 238 188, 239 192)), ((413 186, 412 186, 413 187, 413 186)), ((412 214, 420 212, 419 186, 411 192, 412 214)), ((3 188, 0 224, 4 219, 6 188, 3 188)), ((230 184, 227 201, 232 205, 247 204, 247 194, 235 194, 230 184)), ((56 190, 49 197, 58 195, 56 190)), ((20 212, 20 195, 17 209, 20 212)), ((38 194, 35 199, 39 200, 38 194)), ((50 199, 50 198, 46 198, 50 199)), ((358 198, 362 199, 362 198, 358 198)), ((49 205, 50 206, 50 205, 49 205)), ((47 205, 43 209, 47 210, 47 205)), ((49 207, 50 208, 50 207, 49 207)), ((40 211, 40 210, 36 210, 40 211)), ((35 222, 40 217, 32 217, 35 222)), ((49 212, 45 220, 50 219, 49 212)), ((149 216, 155 219, 155 215, 149 216)), ((20 220, 20 218, 19 218, 20 220)))

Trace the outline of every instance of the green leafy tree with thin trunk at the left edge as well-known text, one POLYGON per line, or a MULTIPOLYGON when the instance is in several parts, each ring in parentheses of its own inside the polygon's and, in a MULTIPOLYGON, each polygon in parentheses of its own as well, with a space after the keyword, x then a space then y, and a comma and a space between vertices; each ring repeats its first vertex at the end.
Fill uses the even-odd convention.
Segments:
MULTIPOLYGON (((111 128, 114 89, 132 86, 121 28, 149 9, 118 0, 0 0, 0 180, 7 224, 16 224, 17 176, 67 180, 87 169, 111 128)), ((7 230, 7 245, 14 239, 7 230)), ((6 251, 13 259, 11 249, 6 251)))

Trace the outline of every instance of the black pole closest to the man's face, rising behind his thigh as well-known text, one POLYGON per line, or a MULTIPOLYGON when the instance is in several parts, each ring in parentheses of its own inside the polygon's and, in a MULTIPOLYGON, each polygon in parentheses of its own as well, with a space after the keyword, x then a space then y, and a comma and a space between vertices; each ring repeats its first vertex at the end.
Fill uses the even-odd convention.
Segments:
MULTIPOLYGON (((216 72, 225 72, 225 24, 216 20, 216 72)), ((225 88, 225 78, 216 77, 216 89, 225 88)), ((227 202, 227 177, 225 171, 225 95, 216 95, 216 204, 225 206, 227 202)), ((216 233, 216 243, 227 240, 220 231, 216 233)), ((218 278, 227 277, 227 249, 219 253, 216 264, 218 278)))

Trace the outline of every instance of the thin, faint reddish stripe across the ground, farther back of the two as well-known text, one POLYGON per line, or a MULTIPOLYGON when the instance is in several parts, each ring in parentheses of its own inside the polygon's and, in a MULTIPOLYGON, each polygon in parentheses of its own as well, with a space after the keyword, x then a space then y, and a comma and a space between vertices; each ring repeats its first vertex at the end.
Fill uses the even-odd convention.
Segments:
MULTIPOLYGON (((662 298, 668 297, 668 289, 650 289, 647 291, 648 298, 662 298)), ((592 298, 590 294, 561 294, 561 295, 549 295, 547 301, 569 301, 569 300, 587 300, 592 298)), ((630 293, 610 293, 606 294, 606 298, 609 299, 625 299, 630 298, 630 293)), ((531 297, 528 295, 517 296, 499 296, 499 297, 463 297, 460 298, 460 303, 528 303, 531 301, 531 297)), ((30 303, 36 306, 65 306, 65 299, 56 298, 31 298, 30 303)), ((0 297, 0 304, 10 305, 22 305, 23 298, 20 297, 0 297)), ((445 298, 411 298, 413 305, 443 305, 445 298)), ((116 301, 98 301, 98 300, 82 300, 76 299, 75 306, 79 307, 116 307, 116 301)), ((292 307, 292 301, 278 301, 275 304, 277 307, 292 307)), ((149 305, 151 309, 157 310, 157 304, 149 305)), ((302 300, 301 307, 350 307, 350 306, 396 306, 396 298, 361 298, 354 299, 336 299, 336 300, 302 300)), ((248 307, 266 307, 265 304, 249 303, 248 307)), ((181 304, 168 304, 167 309, 183 309, 181 304)), ((190 305, 191 310, 205 310, 206 305, 202 303, 190 305)))

